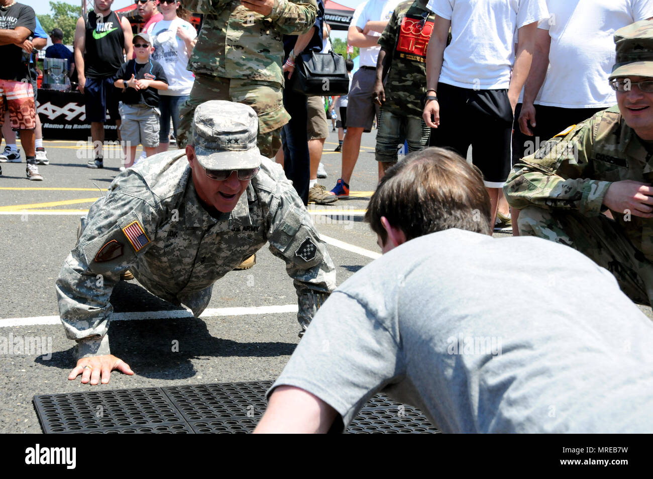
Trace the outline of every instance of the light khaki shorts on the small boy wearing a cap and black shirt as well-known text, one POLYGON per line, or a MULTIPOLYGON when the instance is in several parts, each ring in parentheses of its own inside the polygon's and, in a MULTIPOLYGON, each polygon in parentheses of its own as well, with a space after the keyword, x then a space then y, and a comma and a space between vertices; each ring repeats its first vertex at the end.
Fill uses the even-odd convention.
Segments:
POLYGON ((148 105, 120 103, 120 137, 127 146, 142 144, 147 148, 159 146, 159 108, 148 105))

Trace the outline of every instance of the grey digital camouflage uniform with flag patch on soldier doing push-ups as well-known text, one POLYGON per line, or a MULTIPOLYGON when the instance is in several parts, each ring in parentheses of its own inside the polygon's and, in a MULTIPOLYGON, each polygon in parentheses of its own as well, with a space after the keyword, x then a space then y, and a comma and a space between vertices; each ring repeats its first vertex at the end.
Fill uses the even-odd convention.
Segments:
POLYGON ((202 207, 183 151, 157 155, 116 177, 67 257, 56 289, 59 314, 78 359, 110 354, 109 298, 129 269, 151 293, 199 316, 212 286, 270 243, 295 280, 305 329, 335 288, 325 245, 279 165, 262 159, 236 208, 213 218, 202 207))

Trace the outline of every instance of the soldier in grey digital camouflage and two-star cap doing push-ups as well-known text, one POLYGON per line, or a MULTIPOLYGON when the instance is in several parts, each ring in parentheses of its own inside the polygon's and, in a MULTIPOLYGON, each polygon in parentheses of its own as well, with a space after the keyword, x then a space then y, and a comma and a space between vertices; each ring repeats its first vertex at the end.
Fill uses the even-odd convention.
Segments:
POLYGON ((202 103, 185 152, 127 169, 91 206, 56 284, 61 322, 77 342, 69 379, 106 384, 114 369, 133 374, 110 354, 107 335, 109 298, 127 269, 151 293, 199 316, 214 282, 269 242, 295 280, 306 329, 336 272, 291 182, 261 156, 258 125, 247 105, 202 103))

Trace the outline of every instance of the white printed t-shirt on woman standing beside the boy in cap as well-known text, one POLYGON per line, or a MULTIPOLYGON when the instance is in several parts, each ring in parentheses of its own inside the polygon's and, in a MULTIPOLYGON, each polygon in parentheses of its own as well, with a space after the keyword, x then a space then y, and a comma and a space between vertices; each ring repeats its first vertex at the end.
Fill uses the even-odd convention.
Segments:
POLYGON ((177 36, 177 27, 182 27, 191 38, 197 37, 195 27, 179 17, 151 24, 147 31, 154 45, 151 58, 161 63, 168 78, 168 90, 159 90, 159 95, 190 95, 195 81, 193 73, 186 69, 190 52, 177 36))

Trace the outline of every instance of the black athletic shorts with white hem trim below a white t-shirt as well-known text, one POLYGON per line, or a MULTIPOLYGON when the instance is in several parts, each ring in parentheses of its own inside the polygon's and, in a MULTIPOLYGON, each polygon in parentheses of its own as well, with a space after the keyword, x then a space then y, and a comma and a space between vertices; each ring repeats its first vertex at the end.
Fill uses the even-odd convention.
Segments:
POLYGON ((463 158, 471 144, 472 161, 485 186, 502 188, 510 173, 513 109, 507 90, 473 90, 438 83, 440 125, 429 146, 452 148, 463 158))

